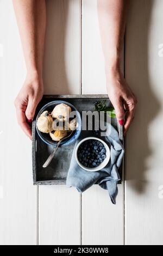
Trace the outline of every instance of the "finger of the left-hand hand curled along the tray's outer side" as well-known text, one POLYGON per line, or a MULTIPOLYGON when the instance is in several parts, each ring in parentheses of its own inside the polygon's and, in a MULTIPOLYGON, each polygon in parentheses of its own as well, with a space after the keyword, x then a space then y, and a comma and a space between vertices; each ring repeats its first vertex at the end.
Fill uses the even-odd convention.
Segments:
POLYGON ((17 121, 26 135, 32 139, 32 131, 26 122, 26 115, 21 108, 16 109, 17 121))

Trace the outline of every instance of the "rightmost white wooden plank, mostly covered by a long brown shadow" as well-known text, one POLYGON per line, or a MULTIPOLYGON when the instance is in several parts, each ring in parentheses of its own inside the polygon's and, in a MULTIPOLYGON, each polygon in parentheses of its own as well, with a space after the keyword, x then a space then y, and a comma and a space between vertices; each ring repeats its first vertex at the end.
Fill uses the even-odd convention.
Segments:
POLYGON ((126 76, 138 97, 127 136, 126 244, 163 245, 163 1, 130 1, 126 76))

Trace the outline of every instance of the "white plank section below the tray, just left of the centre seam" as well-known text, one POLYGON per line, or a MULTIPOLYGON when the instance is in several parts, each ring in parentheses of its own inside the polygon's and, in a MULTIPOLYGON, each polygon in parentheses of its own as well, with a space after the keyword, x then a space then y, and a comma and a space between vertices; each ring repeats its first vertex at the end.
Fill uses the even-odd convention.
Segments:
POLYGON ((79 193, 64 185, 40 186, 40 245, 79 243, 79 193))

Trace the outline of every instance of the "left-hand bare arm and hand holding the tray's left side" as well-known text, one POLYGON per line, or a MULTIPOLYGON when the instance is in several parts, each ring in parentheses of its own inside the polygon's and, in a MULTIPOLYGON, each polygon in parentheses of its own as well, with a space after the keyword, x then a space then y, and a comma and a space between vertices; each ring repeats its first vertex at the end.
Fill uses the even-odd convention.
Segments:
POLYGON ((43 95, 42 63, 46 29, 45 0, 13 0, 27 77, 15 100, 18 124, 32 138, 29 123, 43 95))

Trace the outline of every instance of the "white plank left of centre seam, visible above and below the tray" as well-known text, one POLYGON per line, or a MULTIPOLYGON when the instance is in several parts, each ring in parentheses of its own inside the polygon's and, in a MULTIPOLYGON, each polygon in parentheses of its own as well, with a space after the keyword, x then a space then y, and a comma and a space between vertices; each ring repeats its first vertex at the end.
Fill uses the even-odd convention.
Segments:
MULTIPOLYGON (((44 84, 47 94, 80 94, 80 1, 47 1, 44 84)), ((79 245, 80 196, 40 186, 40 245, 79 245)))

